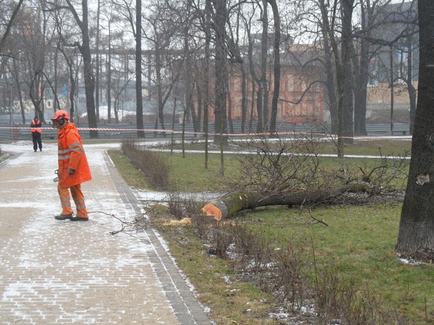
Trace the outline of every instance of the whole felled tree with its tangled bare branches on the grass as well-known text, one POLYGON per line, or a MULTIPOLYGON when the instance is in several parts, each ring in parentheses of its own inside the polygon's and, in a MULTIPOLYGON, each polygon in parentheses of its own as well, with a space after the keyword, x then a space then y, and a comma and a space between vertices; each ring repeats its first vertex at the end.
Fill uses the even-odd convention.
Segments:
POLYGON ((225 180, 228 194, 210 201, 223 218, 268 205, 363 203, 372 198, 402 199, 409 160, 383 155, 363 164, 327 160, 322 153, 330 142, 317 138, 256 138, 240 142, 236 170, 225 180), (398 184, 398 181, 401 182, 398 184))

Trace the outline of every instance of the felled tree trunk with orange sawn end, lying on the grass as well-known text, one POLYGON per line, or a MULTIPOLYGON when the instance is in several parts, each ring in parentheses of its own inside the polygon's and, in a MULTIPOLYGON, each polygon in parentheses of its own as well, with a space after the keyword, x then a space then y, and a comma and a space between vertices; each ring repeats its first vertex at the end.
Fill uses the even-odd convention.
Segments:
POLYGON ((202 212, 206 215, 214 215, 215 219, 220 220, 231 217, 241 210, 255 209, 259 206, 333 203, 346 192, 362 192, 366 189, 366 183, 359 183, 322 191, 305 189, 274 193, 237 191, 210 200, 203 207, 202 212))

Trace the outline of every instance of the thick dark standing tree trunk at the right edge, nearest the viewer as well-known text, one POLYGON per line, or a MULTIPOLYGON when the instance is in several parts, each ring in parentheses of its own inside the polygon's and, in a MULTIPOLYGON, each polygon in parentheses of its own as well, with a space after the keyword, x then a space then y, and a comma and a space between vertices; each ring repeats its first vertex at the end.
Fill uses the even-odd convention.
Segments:
POLYGON ((413 129, 412 159, 399 223, 397 252, 416 260, 434 260, 434 4, 419 0, 419 94, 413 129))

